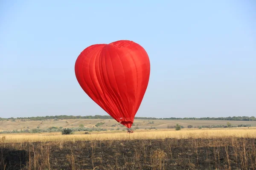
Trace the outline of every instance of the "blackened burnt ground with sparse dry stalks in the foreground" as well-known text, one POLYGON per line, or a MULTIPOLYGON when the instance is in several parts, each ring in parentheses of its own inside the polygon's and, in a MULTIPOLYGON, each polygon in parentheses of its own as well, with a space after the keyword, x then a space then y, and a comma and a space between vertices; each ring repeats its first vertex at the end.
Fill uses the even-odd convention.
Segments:
POLYGON ((150 139, 1 145, 1 170, 256 169, 256 139, 150 139))

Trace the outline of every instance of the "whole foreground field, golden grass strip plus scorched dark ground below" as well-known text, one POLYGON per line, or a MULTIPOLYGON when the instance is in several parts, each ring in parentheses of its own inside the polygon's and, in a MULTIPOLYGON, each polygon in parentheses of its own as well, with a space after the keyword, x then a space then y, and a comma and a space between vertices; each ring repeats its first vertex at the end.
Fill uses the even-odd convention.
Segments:
POLYGON ((0 134, 3 170, 254 170, 256 127, 0 134))

